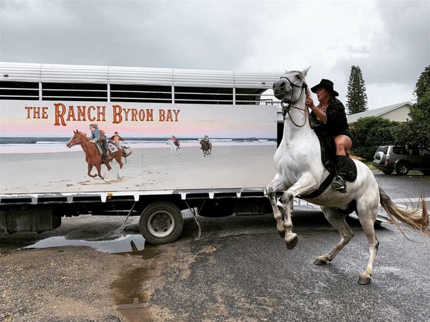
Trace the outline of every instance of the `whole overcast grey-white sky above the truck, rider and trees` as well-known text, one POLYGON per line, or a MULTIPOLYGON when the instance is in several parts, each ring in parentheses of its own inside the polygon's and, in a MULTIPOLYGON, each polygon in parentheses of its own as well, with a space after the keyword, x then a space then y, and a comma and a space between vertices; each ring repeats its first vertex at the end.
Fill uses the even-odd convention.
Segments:
POLYGON ((269 71, 312 66, 345 102, 360 66, 370 109, 414 100, 430 64, 430 1, 4 1, 0 60, 269 71))

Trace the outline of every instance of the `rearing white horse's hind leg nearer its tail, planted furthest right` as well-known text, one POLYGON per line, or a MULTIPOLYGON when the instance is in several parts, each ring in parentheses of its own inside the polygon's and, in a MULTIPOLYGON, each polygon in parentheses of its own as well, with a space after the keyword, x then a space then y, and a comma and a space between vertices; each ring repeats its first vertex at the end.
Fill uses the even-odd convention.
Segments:
POLYGON ((369 262, 367 263, 366 269, 359 275, 359 284, 369 284, 370 278, 373 274, 373 264, 375 262, 376 255, 378 253, 379 242, 375 236, 375 220, 378 215, 378 205, 370 207, 369 203, 357 202, 357 215, 360 220, 361 226, 366 233, 367 241, 369 242, 369 262))

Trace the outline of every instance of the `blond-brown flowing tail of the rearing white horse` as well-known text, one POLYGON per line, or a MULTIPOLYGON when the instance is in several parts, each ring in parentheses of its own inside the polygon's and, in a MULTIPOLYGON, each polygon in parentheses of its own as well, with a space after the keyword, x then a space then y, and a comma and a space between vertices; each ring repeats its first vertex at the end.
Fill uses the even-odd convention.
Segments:
MULTIPOLYGON (((402 223, 430 236, 429 228, 429 214, 427 212, 426 201, 423 196, 420 197, 421 209, 420 208, 412 208, 412 209, 404 209, 396 205, 390 197, 379 187, 379 197, 381 201, 382 207, 387 212, 388 216, 391 219, 391 222, 399 229, 399 231, 405 236, 405 233, 400 228, 397 220, 402 223)), ((406 237, 406 236, 405 236, 406 237)))

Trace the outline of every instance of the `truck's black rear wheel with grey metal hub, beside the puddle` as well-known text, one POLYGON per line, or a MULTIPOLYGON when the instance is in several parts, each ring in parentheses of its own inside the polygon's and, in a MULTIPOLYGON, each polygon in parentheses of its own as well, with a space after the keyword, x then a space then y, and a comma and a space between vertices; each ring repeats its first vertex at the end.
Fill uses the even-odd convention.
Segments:
POLYGON ((178 207, 171 202, 154 202, 140 215, 139 230, 153 245, 175 241, 181 235, 184 219, 178 207))

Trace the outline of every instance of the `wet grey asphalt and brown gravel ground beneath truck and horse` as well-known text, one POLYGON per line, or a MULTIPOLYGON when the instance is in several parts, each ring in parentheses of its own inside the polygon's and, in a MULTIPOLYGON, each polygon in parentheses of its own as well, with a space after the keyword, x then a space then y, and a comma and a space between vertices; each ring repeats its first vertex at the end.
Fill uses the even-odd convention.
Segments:
MULTIPOLYGON (((416 198, 430 187, 429 177, 376 178, 392 198, 416 198)), ((137 220, 130 218, 132 234, 137 220)), ((0 321, 428 321, 430 244, 410 229, 412 242, 392 226, 377 229, 372 284, 360 286, 368 249, 357 221, 349 220, 355 237, 323 267, 312 262, 338 235, 318 208, 295 207, 292 251, 272 216, 200 222, 200 240, 187 217, 177 242, 123 254, 16 250, 54 236, 118 237, 122 221, 113 216, 63 218, 52 232, 0 236, 0 321)))

